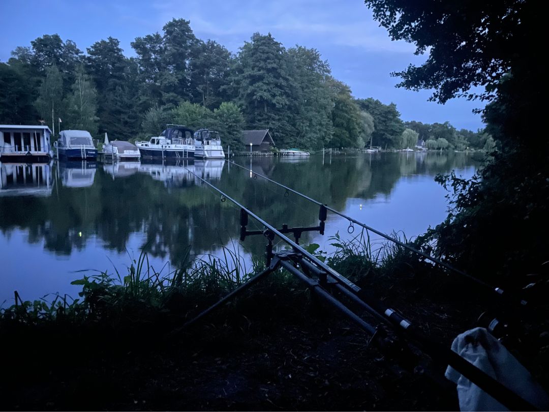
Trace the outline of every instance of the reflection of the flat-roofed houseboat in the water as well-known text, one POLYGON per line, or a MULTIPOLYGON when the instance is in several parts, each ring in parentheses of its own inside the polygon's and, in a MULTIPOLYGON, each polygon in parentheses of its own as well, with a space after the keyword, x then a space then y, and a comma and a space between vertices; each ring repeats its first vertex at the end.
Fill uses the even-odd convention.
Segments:
POLYGON ((50 196, 52 164, 0 162, 0 196, 50 196))

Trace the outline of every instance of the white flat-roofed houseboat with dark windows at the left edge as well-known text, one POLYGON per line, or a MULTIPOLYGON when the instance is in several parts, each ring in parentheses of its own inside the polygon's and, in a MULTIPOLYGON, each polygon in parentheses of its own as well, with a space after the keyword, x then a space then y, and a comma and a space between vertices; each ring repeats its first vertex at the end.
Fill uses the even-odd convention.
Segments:
POLYGON ((0 125, 0 162, 49 162, 51 135, 48 126, 0 125))

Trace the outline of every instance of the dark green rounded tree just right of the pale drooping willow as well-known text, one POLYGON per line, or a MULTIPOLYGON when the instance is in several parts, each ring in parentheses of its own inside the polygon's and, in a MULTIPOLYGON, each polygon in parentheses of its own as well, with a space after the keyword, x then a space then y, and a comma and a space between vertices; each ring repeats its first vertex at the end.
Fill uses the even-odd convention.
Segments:
POLYGON ((398 147, 405 127, 400 120, 400 113, 396 110, 396 104, 383 104, 372 97, 357 99, 356 102, 362 110, 374 118, 373 145, 383 148, 398 147))

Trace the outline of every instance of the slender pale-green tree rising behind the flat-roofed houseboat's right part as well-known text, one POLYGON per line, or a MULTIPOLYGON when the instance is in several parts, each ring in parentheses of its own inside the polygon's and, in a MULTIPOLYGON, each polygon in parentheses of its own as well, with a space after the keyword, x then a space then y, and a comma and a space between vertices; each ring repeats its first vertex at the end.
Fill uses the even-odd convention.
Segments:
MULTIPOLYGON (((55 130, 53 122, 64 112, 63 104, 63 79, 57 66, 52 65, 46 68, 46 77, 40 86, 40 95, 36 101, 38 113, 42 119, 46 120, 46 124, 50 129, 55 130)), ((59 132, 59 131, 57 131, 59 132)))

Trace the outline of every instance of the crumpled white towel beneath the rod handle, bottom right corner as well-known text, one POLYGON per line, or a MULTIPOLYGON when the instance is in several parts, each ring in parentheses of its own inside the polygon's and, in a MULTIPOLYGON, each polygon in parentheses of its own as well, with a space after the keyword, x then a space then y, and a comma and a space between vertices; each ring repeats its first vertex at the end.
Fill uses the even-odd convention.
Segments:
MULTIPOLYGON (((452 350, 540 410, 549 407, 547 394, 530 372, 483 327, 458 335, 452 342, 452 350)), ((462 411, 508 410, 451 366, 445 376, 457 385, 462 411)))

